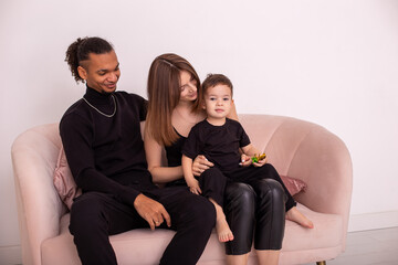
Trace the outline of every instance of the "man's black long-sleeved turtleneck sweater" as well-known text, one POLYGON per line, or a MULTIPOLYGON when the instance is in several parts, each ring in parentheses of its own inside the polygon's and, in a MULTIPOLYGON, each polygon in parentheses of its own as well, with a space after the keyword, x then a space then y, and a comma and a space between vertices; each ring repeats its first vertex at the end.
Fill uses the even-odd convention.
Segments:
POLYGON ((83 98, 77 100, 60 123, 72 174, 83 192, 111 193, 133 204, 139 193, 156 189, 147 171, 140 134, 146 100, 135 94, 101 94, 90 87, 84 98, 92 106, 83 98), (103 115, 112 115, 115 107, 114 116, 103 115))

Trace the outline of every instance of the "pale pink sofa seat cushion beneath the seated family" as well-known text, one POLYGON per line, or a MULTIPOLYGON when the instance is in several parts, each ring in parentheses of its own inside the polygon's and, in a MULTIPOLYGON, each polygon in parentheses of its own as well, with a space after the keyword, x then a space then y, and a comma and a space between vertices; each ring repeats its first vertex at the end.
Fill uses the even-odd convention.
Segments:
MULTIPOLYGON (((318 254, 317 251, 314 250, 320 250, 323 253, 325 251, 331 252, 332 257, 335 256, 336 253, 342 252, 341 244, 344 233, 335 233, 335 231, 342 231, 343 229, 343 219, 341 215, 314 212, 300 203, 297 204, 297 209, 314 222, 315 227, 308 230, 294 222, 286 221, 281 264, 302 263, 295 255, 293 255, 293 259, 285 261, 290 258, 286 256, 286 253, 308 252, 308 255, 313 255, 315 261, 321 261, 317 259, 316 255, 318 254), (283 255, 283 253, 285 254, 283 255)), ((73 244, 73 236, 69 232, 69 223, 70 213, 61 219, 60 234, 43 242, 41 246, 43 265, 81 264, 73 244)), ((156 231, 151 231, 149 229, 137 229, 112 235, 109 240, 115 248, 119 264, 149 265, 156 264, 160 259, 167 244, 174 235, 175 232, 170 230, 157 229, 156 231), (135 257, 134 262, 132 262, 132 256, 135 257)), ((198 265, 223 264, 226 258, 223 253, 224 246, 218 241, 216 230, 213 230, 198 265)), ((251 252, 251 256, 253 255, 255 255, 255 252, 251 252)))

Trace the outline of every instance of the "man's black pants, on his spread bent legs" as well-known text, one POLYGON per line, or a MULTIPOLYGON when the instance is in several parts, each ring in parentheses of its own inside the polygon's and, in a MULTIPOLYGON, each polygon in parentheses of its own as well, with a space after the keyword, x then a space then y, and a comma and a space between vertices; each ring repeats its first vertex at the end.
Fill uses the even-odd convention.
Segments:
MULTIPOLYGON (((214 226, 213 205, 186 187, 157 189, 145 194, 165 206, 171 218, 171 229, 177 231, 159 263, 196 264, 214 226)), ((86 192, 72 205, 70 231, 83 265, 117 264, 108 236, 138 227, 149 225, 133 205, 122 203, 114 195, 86 192)), ((166 223, 161 227, 166 229, 166 223)))

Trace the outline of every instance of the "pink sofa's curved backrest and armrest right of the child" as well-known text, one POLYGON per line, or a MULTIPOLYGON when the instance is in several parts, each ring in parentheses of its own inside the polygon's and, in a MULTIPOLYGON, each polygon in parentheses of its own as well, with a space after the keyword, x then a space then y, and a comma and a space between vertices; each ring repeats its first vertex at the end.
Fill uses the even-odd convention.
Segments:
POLYGON ((343 214, 348 221, 353 169, 344 142, 320 125, 272 115, 240 115, 258 149, 280 174, 303 180, 295 200, 313 211, 343 214))

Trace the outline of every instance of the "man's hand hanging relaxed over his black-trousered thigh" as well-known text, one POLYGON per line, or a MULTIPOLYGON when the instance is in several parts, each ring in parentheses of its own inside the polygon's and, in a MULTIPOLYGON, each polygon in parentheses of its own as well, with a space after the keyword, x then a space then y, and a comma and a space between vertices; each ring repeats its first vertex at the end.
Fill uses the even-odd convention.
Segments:
POLYGON ((138 214, 148 222, 151 230, 155 230, 155 227, 159 226, 164 221, 166 221, 167 226, 171 226, 170 215, 161 203, 144 194, 139 194, 134 201, 134 208, 138 214))

